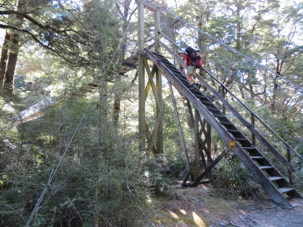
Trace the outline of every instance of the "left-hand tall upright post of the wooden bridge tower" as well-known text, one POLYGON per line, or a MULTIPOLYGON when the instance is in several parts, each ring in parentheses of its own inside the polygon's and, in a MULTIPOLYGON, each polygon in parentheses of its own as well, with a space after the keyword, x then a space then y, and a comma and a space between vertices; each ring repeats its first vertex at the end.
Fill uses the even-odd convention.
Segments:
POLYGON ((142 53, 144 52, 144 5, 138 2, 138 133, 139 150, 145 151, 145 75, 142 53))

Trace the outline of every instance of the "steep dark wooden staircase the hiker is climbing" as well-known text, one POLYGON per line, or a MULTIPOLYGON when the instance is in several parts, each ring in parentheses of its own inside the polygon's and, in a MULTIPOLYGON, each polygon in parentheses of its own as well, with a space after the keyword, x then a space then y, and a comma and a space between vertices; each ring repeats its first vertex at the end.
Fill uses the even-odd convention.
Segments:
MULTIPOLYGON (((174 86, 183 94, 191 104, 199 111, 199 113, 211 124, 215 131, 222 137, 227 144, 230 141, 236 141, 235 149, 232 151, 249 169, 252 175, 263 186, 269 196, 282 206, 292 207, 287 200, 289 198, 302 198, 295 188, 288 183, 284 176, 266 159, 266 157, 255 147, 248 138, 219 110, 213 102, 206 97, 198 88, 190 86, 182 74, 173 64, 171 64, 163 55, 154 53, 145 48, 145 56, 150 59, 171 81, 174 86), (287 196, 286 196, 287 195, 287 196)), ((238 113, 239 114, 239 113, 238 113)), ((241 116, 240 116, 241 117, 241 116)), ((241 117, 243 118, 243 117, 241 117)), ((244 119, 244 118, 243 118, 244 119)), ((260 137, 262 140, 265 138, 260 137)), ((262 141, 261 141, 262 142, 262 141)), ((265 140, 268 150, 271 151, 283 164, 288 163, 285 158, 278 153, 275 148, 269 145, 265 140)), ((227 153, 225 151, 225 153, 227 153)), ((224 153, 224 154, 225 154, 224 153)), ((220 159, 224 156, 219 156, 220 159)), ((216 161, 216 163, 219 160, 216 161)), ((212 165, 211 168, 215 166, 212 165)), ((290 163, 285 166, 292 171, 290 163)), ((211 168, 208 168, 207 173, 211 168)), ((195 182, 198 183, 207 174, 202 173, 196 176, 195 182)))

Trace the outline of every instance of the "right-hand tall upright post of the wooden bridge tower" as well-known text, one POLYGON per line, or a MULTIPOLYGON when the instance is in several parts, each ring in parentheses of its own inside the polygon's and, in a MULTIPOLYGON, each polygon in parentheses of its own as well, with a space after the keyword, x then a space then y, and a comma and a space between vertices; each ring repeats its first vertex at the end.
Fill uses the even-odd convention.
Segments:
MULTIPOLYGON (((157 9, 154 14, 155 18, 155 52, 161 53, 161 47, 159 45, 160 34, 160 9, 157 9)), ((159 127, 157 129, 157 153, 163 153, 163 117, 162 112, 162 74, 160 69, 156 69, 156 90, 159 97, 159 103, 156 107, 156 116, 159 119, 159 127)))

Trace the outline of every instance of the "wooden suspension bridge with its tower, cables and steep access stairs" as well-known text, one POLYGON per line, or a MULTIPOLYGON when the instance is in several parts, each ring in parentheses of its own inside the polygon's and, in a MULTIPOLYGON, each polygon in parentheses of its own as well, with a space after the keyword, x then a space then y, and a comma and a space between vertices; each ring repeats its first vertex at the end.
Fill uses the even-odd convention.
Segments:
MULTIPOLYGON (((168 81, 168 86, 171 93, 172 104, 174 107, 175 117, 178 123, 179 135, 184 150, 188 172, 183 179, 182 186, 194 187, 204 179, 211 169, 227 154, 234 153, 252 175, 257 179, 260 185, 265 189, 269 196, 278 204, 285 207, 293 207, 291 199, 300 198, 302 196, 294 188, 291 183, 293 166, 291 164, 291 154, 300 159, 302 157, 294 148, 292 148, 283 138, 279 136, 258 114, 251 110, 240 98, 236 96, 228 87, 225 86, 218 78, 216 78, 206 67, 202 67, 203 74, 208 75, 212 81, 220 85, 221 89, 218 91, 214 86, 208 83, 204 77, 196 74, 195 77, 204 86, 204 90, 192 88, 185 78, 185 75, 178 69, 177 62, 183 65, 183 60, 178 56, 178 51, 181 49, 174 41, 172 41, 167 34, 161 31, 160 18, 163 12, 174 16, 180 21, 183 21, 193 29, 198 30, 206 37, 215 41, 218 45, 222 45, 228 51, 234 52, 241 58, 250 62, 264 70, 267 73, 278 76, 286 84, 291 86, 298 92, 303 89, 298 85, 288 81, 284 77, 276 74, 265 66, 257 63, 253 59, 248 58, 244 54, 236 51, 214 37, 208 35, 204 31, 188 24, 186 21, 171 14, 164 8, 144 0, 137 0, 138 4, 138 51, 135 55, 123 61, 120 74, 123 75, 130 70, 138 72, 138 133, 140 137, 139 149, 144 152, 163 153, 163 106, 162 106, 162 76, 168 81), (145 47, 144 40, 144 8, 150 10, 154 14, 154 35, 155 44, 154 49, 151 50, 145 47), (162 40, 165 39, 173 48, 169 48, 162 40), (166 55, 174 59, 174 64, 168 60, 161 51, 165 51, 166 55), (150 66, 152 65, 152 66, 150 66), (145 75, 147 74, 147 80, 145 75), (154 80, 155 78, 155 80, 154 80), (175 101, 174 89, 179 92, 187 100, 188 113, 190 114, 191 124, 194 126, 193 140, 195 141, 195 158, 190 160, 188 156, 188 149, 185 144, 183 132, 178 116, 178 109, 175 101), (152 130, 147 126, 145 121, 145 100, 149 91, 152 90, 156 101, 156 121, 152 130), (206 92, 207 91, 207 92, 206 92), (232 97, 232 100, 241 106, 242 109, 248 111, 251 116, 250 121, 243 117, 234 105, 230 103, 227 98, 232 97), (229 111, 233 118, 238 119, 237 127, 233 120, 228 118, 226 111, 229 111), (268 137, 255 124, 262 125, 268 132, 275 136, 276 140, 272 143, 268 137), (211 157, 211 128, 225 141, 226 148, 215 158, 211 157), (248 130, 251 136, 248 138, 242 132, 243 129, 248 130), (204 137, 204 139, 202 139, 204 137), (284 157, 273 144, 281 144, 287 151, 287 157, 284 157), (264 147, 266 149, 264 149, 264 147), (265 153, 271 153, 275 158, 288 170, 288 177, 284 176, 275 167, 271 160, 266 157, 265 153), (200 163, 204 163, 201 166, 200 163)), ((75 92, 75 94, 85 94, 88 91, 96 90, 99 87, 100 81, 92 81, 88 83, 83 89, 75 92)), ((54 104, 56 101, 52 100, 45 105, 54 104)), ((25 115, 26 111, 21 115, 26 116, 25 119, 33 120, 41 116, 42 105, 39 108, 33 107, 30 114, 25 115)), ((77 128, 78 129, 78 128, 77 128)), ((76 131, 77 131, 76 129, 76 131)), ((66 148, 68 149, 68 147, 66 148)), ((62 157, 63 158, 63 157, 62 157)), ((58 168, 58 167, 57 167, 58 168)), ((51 179, 51 178, 50 178, 51 179)))

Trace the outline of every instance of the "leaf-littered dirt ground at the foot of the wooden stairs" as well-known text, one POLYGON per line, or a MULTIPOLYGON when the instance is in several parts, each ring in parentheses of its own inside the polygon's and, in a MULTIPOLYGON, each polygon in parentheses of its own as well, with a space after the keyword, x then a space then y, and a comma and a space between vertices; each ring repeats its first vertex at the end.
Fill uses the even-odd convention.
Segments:
POLYGON ((293 199, 293 209, 281 208, 269 197, 250 200, 228 196, 209 185, 171 187, 164 198, 151 199, 158 212, 157 227, 303 227, 303 200, 293 199))

